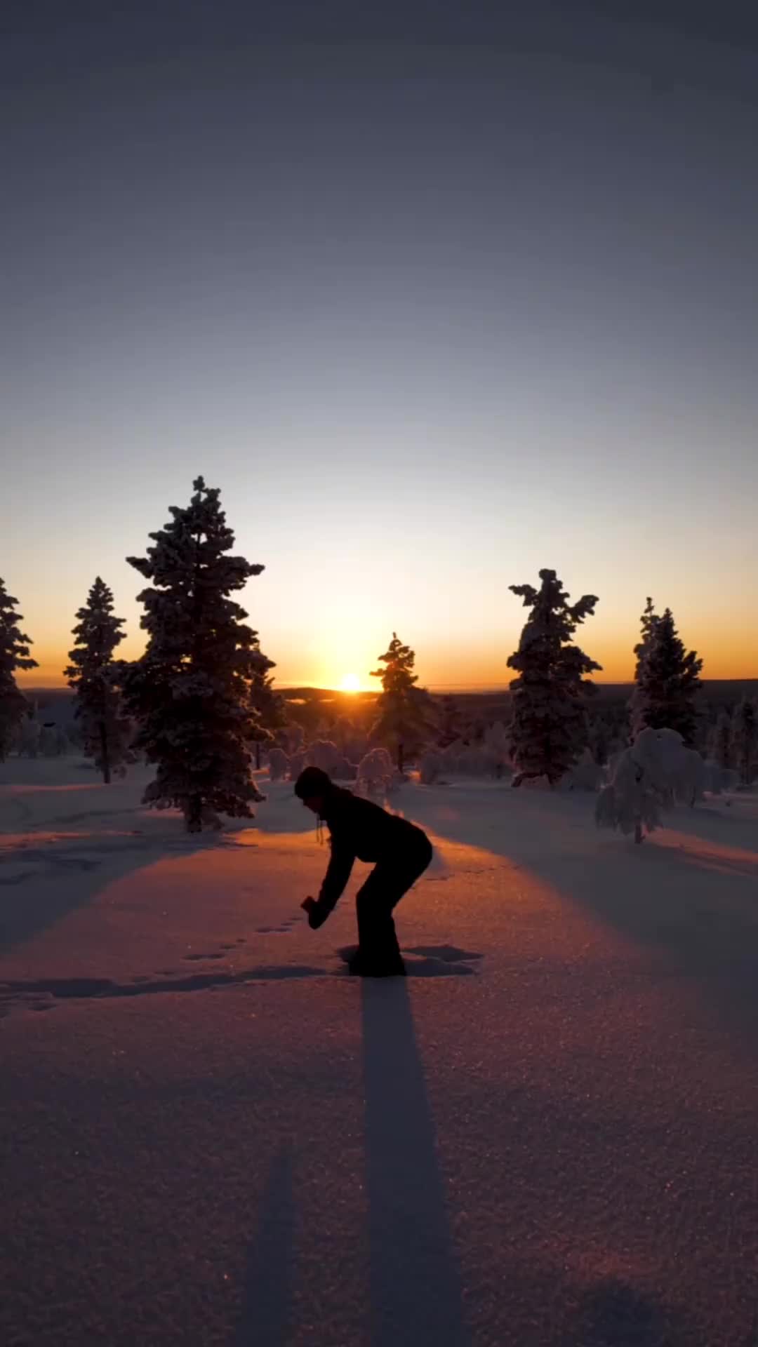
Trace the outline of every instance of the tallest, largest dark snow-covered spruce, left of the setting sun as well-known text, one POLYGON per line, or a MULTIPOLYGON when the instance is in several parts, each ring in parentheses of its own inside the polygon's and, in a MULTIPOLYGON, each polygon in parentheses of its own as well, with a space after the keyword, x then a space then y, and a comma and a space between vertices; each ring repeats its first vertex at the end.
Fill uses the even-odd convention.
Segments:
POLYGON ((128 562, 151 586, 139 595, 148 634, 128 665, 124 691, 140 723, 136 748, 155 762, 144 803, 182 810, 189 832, 218 827, 218 814, 252 818, 263 796, 251 776, 245 741, 255 719, 250 684, 259 668, 258 637, 229 595, 263 566, 229 556, 235 535, 217 488, 198 477, 183 509, 156 533, 147 556, 128 562))

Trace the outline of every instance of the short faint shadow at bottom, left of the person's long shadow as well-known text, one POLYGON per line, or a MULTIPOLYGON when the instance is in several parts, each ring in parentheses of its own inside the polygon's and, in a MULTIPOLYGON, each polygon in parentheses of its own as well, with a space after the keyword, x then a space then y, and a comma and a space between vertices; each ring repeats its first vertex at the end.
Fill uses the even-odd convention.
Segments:
POLYGON ((271 1161, 243 1288, 233 1347, 282 1347, 290 1324, 295 1206, 287 1148, 271 1161))

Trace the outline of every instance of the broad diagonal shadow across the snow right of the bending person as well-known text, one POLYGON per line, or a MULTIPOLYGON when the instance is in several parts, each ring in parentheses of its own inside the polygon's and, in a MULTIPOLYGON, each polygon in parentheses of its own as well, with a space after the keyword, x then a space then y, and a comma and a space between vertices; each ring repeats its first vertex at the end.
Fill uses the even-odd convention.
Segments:
MULTIPOLYGON (((471 843, 472 820, 455 810, 455 791, 429 791, 418 803, 422 826, 471 843)), ((703 1002, 758 1048, 758 870, 746 855, 758 847, 755 824, 742 819, 732 828, 728 818, 676 810, 669 824, 681 845, 635 846, 597 834, 592 797, 503 789, 499 803, 500 819, 480 830, 479 846, 647 947, 666 971, 692 978, 703 1002)))

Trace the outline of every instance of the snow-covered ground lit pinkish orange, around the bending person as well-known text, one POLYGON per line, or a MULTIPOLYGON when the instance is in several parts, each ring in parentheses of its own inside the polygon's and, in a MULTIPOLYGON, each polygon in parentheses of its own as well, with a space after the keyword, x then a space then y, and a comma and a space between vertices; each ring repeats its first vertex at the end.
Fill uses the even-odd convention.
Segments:
POLYGON ((348 978, 289 784, 187 838, 0 765, 8 1347, 754 1347, 758 799, 409 784, 411 977, 348 978))

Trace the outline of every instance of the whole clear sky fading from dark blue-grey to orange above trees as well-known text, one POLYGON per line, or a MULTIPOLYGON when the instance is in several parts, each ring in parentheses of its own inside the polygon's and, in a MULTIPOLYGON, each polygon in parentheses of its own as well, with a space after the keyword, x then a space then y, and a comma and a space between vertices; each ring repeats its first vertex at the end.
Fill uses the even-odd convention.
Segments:
POLYGON ((758 35, 588 0, 9 4, 0 575, 59 679, 218 485, 283 683, 495 686, 553 567, 758 675, 758 35), (363 11, 363 12, 361 12, 363 11), (376 11, 371 13, 371 11, 376 11))

